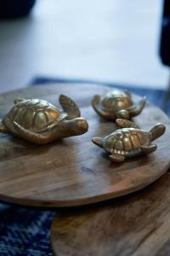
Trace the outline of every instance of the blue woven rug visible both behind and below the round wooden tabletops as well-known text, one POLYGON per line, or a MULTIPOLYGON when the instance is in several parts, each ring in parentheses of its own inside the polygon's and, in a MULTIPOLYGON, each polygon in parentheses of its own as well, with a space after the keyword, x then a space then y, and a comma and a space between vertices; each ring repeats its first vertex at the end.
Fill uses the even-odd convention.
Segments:
MULTIPOLYGON (((155 103, 160 108, 163 104, 163 90, 138 89, 131 86, 78 79, 37 78, 31 82, 34 85, 47 83, 106 84, 147 96, 150 102, 155 103)), ((170 108, 167 108, 167 113, 170 114, 170 108)), ((52 211, 39 211, 0 204, 0 256, 52 256, 50 225, 53 218, 54 212, 52 211)))

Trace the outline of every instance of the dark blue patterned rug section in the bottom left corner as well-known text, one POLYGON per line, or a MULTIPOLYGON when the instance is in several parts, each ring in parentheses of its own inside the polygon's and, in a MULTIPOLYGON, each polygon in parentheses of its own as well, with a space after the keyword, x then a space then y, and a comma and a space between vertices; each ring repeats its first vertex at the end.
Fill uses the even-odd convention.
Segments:
POLYGON ((52 256, 50 226, 54 212, 0 205, 1 256, 52 256))

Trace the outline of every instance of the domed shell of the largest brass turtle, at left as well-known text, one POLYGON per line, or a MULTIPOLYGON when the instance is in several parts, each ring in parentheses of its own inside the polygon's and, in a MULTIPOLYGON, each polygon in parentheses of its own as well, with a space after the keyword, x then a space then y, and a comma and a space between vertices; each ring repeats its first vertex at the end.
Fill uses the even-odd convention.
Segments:
POLYGON ((60 112, 54 105, 38 99, 19 102, 8 112, 3 119, 4 124, 10 129, 14 122, 30 131, 43 131, 48 125, 60 121, 67 116, 60 112))

